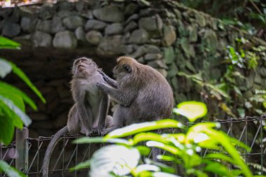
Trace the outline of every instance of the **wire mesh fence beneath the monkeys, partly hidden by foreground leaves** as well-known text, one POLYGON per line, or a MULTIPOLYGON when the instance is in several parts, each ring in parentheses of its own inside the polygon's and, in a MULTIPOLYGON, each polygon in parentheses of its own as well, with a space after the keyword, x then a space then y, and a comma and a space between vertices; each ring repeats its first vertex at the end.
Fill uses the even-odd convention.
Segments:
MULTIPOLYGON (((221 123, 221 129, 225 133, 251 147, 250 152, 241 148, 238 148, 238 150, 254 174, 265 175, 266 131, 263 126, 266 124, 266 115, 240 119, 230 118, 228 120, 216 120, 216 122, 221 123)), ((190 127, 191 124, 186 124, 186 126, 190 127)), ((178 129, 167 130, 167 132, 172 133, 178 131, 178 129)), ((80 136, 82 135, 66 135, 60 139, 50 159, 50 176, 89 176, 89 169, 79 171, 69 171, 69 169, 90 159, 92 153, 104 145, 71 143, 80 136)), ((9 146, 1 146, 0 159, 8 162, 12 167, 17 167, 28 176, 42 176, 43 156, 50 139, 51 137, 41 136, 37 139, 31 139, 25 137, 25 132, 17 132, 16 141, 9 146), (24 142, 23 139, 25 139, 24 142)), ((205 149, 201 151, 200 155, 204 157, 207 153, 210 152, 205 149)), ((172 166, 174 167, 174 164, 172 166)), ((0 174, 0 176, 7 175, 0 174)))

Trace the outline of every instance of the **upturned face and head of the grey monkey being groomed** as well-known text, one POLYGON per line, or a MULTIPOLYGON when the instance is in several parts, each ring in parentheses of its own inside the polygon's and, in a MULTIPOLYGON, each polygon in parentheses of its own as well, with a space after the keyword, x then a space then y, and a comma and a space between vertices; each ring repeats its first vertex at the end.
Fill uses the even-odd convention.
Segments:
POLYGON ((76 59, 73 63, 73 77, 86 78, 92 73, 96 72, 98 66, 92 59, 87 59, 85 57, 76 59))

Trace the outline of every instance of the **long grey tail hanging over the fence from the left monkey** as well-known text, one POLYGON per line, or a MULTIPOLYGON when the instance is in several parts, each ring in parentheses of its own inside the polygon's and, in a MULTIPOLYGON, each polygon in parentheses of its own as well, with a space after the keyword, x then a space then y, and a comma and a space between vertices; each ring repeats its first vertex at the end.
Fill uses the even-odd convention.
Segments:
POLYGON ((67 134, 69 130, 67 129, 67 126, 60 129, 55 136, 52 137, 52 140, 50 141, 48 148, 45 151, 44 160, 43 160, 43 177, 48 177, 48 168, 50 165, 50 157, 52 155, 52 151, 54 150, 56 144, 58 143, 58 140, 60 137, 62 137, 64 134, 67 134))

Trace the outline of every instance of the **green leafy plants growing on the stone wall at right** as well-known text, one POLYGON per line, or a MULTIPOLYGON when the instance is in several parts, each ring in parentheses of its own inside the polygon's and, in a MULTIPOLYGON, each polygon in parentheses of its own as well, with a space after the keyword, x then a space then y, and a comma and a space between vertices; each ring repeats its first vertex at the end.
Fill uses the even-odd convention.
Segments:
POLYGON ((243 89, 244 85, 239 85, 239 80, 244 83, 245 74, 257 69, 260 59, 266 57, 266 48, 254 47, 241 37, 236 39, 236 47, 228 45, 226 52, 226 69, 220 80, 205 80, 201 72, 193 75, 179 72, 178 75, 200 85, 204 98, 218 102, 218 106, 233 118, 244 118, 247 113, 263 114, 265 90, 255 90, 252 97, 243 97, 241 87, 243 89))

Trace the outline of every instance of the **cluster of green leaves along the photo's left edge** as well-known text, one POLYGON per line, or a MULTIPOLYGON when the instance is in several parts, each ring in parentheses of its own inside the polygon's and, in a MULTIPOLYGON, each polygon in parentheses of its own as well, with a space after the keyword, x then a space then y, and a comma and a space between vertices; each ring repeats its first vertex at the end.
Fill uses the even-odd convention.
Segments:
MULTIPOLYGON (((0 49, 20 49, 20 44, 0 36, 0 49)), ((12 62, 0 58, 0 77, 2 79, 5 78, 11 71, 21 78, 45 103, 41 92, 31 83, 25 73, 12 62)), ((23 125, 28 126, 31 124, 31 119, 25 113, 25 104, 37 110, 36 104, 27 94, 0 80, 0 143, 8 145, 13 139, 15 127, 22 129, 23 125)), ((4 171, 8 176, 25 176, 1 160, 0 171, 4 171)))

